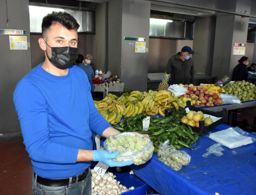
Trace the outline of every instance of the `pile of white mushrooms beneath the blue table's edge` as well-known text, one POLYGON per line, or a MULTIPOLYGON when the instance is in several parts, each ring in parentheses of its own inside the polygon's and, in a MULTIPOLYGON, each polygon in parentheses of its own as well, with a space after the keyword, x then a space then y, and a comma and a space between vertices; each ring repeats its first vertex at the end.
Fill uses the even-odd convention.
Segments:
POLYGON ((116 176, 107 172, 102 177, 98 175, 94 170, 92 172, 92 195, 105 195, 112 194, 118 195, 120 193, 134 189, 133 186, 127 189, 126 186, 120 184, 115 178, 116 176))

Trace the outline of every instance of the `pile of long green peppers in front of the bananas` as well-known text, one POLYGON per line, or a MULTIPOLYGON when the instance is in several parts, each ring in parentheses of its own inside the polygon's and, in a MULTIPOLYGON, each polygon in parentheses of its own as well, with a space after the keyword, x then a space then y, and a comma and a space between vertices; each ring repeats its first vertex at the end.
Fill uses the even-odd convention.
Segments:
POLYGON ((125 118, 115 129, 121 132, 138 132, 141 134, 148 134, 151 141, 154 143, 155 152, 159 144, 170 140, 170 144, 176 148, 190 148, 199 137, 199 133, 193 132, 190 126, 186 127, 180 125, 182 117, 186 114, 185 109, 180 107, 180 110, 174 108, 167 110, 170 113, 169 117, 150 117, 149 128, 143 131, 142 120, 147 114, 139 114, 133 117, 125 118))

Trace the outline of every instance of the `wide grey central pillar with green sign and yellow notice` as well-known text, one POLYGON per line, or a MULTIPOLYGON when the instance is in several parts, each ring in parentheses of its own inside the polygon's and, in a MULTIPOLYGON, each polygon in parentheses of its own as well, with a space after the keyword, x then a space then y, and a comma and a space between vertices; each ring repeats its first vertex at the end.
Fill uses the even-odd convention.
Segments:
POLYGON ((109 1, 108 67, 112 74, 121 76, 126 89, 147 89, 148 51, 135 53, 135 41, 124 37, 145 37, 148 48, 149 18, 150 1, 109 1))

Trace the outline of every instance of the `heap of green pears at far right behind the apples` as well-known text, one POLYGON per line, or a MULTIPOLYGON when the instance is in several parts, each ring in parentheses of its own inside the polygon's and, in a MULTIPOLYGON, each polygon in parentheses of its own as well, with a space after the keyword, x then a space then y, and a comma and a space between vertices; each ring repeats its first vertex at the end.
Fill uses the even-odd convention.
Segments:
POLYGON ((226 94, 236 95, 241 102, 256 100, 256 86, 246 81, 229 83, 223 87, 226 94))

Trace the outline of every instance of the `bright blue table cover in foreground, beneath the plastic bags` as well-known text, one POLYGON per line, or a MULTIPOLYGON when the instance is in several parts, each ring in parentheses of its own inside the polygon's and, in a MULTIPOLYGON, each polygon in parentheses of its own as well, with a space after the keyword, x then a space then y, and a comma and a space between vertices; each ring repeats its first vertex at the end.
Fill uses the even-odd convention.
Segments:
MULTIPOLYGON (((229 128, 221 124, 211 132, 229 128)), ((256 143, 225 150, 224 155, 209 155, 206 148, 216 142, 208 137, 209 133, 200 136, 196 150, 183 149, 191 155, 191 162, 175 171, 158 160, 156 153, 143 165, 130 167, 140 179, 154 188, 161 195, 171 194, 256 194, 256 143)), ((256 138, 256 135, 250 136, 256 138)))

